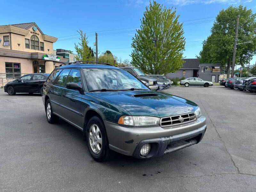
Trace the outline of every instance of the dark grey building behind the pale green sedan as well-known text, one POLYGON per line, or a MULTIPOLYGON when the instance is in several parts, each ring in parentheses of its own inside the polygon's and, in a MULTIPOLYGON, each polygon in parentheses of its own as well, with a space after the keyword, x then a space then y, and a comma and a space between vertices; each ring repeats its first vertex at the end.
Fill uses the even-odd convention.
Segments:
POLYGON ((221 72, 221 64, 199 63, 199 59, 183 59, 183 66, 174 73, 166 74, 169 79, 199 77, 205 81, 218 82, 221 72))

